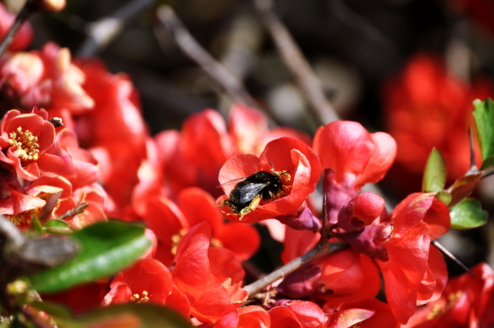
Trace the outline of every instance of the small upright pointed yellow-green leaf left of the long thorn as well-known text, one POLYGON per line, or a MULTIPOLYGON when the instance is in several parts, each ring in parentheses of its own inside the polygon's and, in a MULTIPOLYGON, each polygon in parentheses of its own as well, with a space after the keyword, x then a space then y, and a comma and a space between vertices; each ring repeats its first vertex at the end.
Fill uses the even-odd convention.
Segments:
POLYGON ((445 185, 446 160, 438 149, 433 148, 425 165, 422 192, 437 193, 443 190, 445 185))

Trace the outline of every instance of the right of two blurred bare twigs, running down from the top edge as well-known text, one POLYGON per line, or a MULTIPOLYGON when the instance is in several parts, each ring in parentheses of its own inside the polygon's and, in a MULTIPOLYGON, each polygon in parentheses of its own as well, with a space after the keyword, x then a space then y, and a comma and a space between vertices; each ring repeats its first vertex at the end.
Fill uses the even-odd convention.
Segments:
POLYGON ((303 90, 316 118, 323 125, 338 120, 338 115, 324 93, 321 80, 305 59, 287 27, 273 11, 273 1, 254 0, 254 6, 261 15, 262 23, 275 41, 283 61, 293 74, 298 86, 303 90))

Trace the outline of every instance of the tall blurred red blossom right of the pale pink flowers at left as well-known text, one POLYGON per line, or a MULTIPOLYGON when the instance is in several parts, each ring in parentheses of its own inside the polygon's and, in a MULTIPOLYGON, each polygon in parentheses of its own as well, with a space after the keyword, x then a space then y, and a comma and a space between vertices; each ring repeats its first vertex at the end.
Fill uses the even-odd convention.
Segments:
POLYGON ((146 156, 148 131, 141 115, 138 94, 128 76, 111 74, 98 61, 76 62, 85 74, 84 91, 94 108, 76 119, 76 131, 83 148, 98 147, 108 161, 102 163, 102 184, 116 203, 121 216, 130 204, 137 169, 146 156))

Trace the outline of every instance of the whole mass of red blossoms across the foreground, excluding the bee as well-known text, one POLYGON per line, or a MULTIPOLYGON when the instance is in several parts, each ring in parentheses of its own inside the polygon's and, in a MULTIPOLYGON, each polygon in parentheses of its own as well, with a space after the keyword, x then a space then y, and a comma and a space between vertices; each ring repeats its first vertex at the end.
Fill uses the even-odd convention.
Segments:
MULTIPOLYGON (((1 4, 0 14, 7 15, 1 4)), ((29 29, 17 38, 27 44, 29 29)), ((476 278, 448 282, 446 263, 430 244, 450 229, 444 203, 433 193, 414 193, 388 214, 382 198, 360 194, 395 160, 397 145, 387 133, 337 121, 311 141, 294 129, 269 129, 258 110, 236 105, 228 125, 205 110, 190 116, 181 131, 151 137, 124 74, 111 74, 93 59, 72 60, 67 48, 51 42, 40 51, 13 50, 18 48, 0 62, 0 92, 2 101, 21 109, 1 121, 0 214, 27 229, 31 215, 61 193, 52 217, 89 204, 66 219, 74 229, 108 216, 139 220, 153 241, 109 291, 109 282, 99 282, 46 299, 79 312, 94 304, 148 302, 215 328, 494 324, 493 270, 479 264, 472 269, 476 278), (55 127, 51 118, 64 125, 55 127), (215 195, 218 180, 271 169, 289 171, 281 176, 279 197, 236 214, 223 203, 234 184, 215 195), (309 197, 321 174, 332 239, 351 248, 272 285, 275 296, 263 307, 240 307, 248 296, 241 262, 260 244, 248 223, 284 224, 281 234, 271 225, 284 242, 284 263, 304 254, 321 238, 320 210, 309 197), (387 303, 375 298, 381 275, 387 303)))

